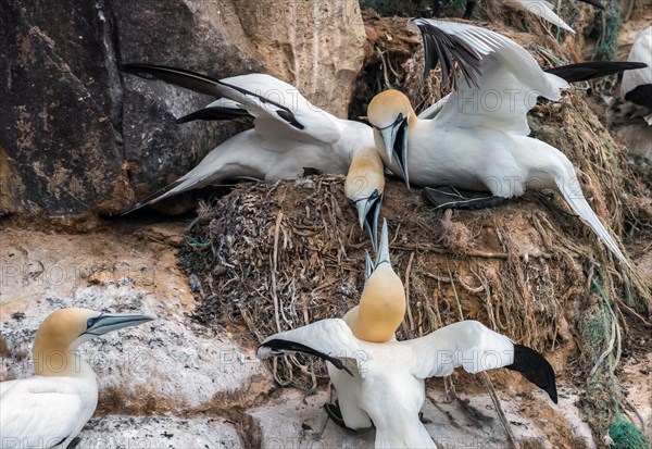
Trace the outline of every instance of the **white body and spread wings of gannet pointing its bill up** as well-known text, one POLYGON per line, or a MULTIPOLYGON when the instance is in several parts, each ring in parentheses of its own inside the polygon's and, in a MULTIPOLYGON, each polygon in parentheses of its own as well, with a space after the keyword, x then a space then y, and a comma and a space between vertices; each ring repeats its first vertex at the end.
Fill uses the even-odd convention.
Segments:
MULTIPOLYGON (((328 364, 347 427, 375 425, 376 448, 435 448, 418 419, 424 379, 448 376, 459 366, 469 373, 516 369, 519 353, 507 337, 475 321, 451 324, 414 340, 375 344, 355 338, 343 320, 330 319, 266 338, 259 357, 305 352, 292 344, 335 358, 351 371, 352 375, 328 364)), ((552 369, 541 356, 530 360, 546 372, 541 376, 546 383, 540 384, 556 401, 552 369)))

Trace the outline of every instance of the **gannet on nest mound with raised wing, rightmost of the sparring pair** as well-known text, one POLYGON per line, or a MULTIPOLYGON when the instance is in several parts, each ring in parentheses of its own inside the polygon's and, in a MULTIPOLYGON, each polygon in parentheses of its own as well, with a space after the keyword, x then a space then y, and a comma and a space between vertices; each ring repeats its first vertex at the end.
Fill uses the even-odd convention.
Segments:
POLYGON ((556 188, 627 264, 586 201, 568 158, 527 137, 526 114, 537 98, 559 100, 567 82, 543 72, 521 46, 491 30, 425 18, 410 21, 409 27, 423 35, 425 74, 441 61, 442 84, 451 76, 459 88, 429 108, 431 120, 419 119, 398 90, 374 97, 367 116, 385 164, 406 184, 489 190, 502 199, 527 188, 556 188))

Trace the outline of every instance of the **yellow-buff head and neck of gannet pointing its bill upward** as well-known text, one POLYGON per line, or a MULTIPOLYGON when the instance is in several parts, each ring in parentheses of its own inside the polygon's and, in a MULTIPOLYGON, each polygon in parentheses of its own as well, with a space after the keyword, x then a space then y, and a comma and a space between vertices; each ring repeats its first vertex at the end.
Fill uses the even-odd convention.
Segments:
POLYGON ((389 264, 381 264, 369 277, 356 313, 347 323, 356 338, 385 342, 394 338, 404 315, 403 283, 389 264))

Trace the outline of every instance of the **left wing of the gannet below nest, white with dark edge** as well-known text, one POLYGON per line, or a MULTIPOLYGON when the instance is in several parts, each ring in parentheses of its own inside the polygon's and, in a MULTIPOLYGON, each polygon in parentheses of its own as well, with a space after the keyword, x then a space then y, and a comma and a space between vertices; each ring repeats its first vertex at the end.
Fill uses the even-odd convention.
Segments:
POLYGON ((297 329, 274 334, 261 344, 258 357, 266 359, 296 352, 324 359, 351 375, 353 369, 362 377, 365 377, 365 372, 361 370, 361 365, 371 360, 369 353, 340 319, 322 320, 297 329))

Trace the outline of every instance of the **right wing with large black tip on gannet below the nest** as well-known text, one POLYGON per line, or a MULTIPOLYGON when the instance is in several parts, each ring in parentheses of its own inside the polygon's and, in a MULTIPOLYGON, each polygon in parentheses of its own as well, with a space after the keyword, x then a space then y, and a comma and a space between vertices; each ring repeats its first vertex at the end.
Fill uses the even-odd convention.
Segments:
POLYGON ((442 377, 462 366, 469 373, 506 367, 518 371, 556 402, 554 371, 537 351, 515 345, 477 321, 462 321, 414 340, 400 341, 412 351, 410 371, 417 377, 442 377))

